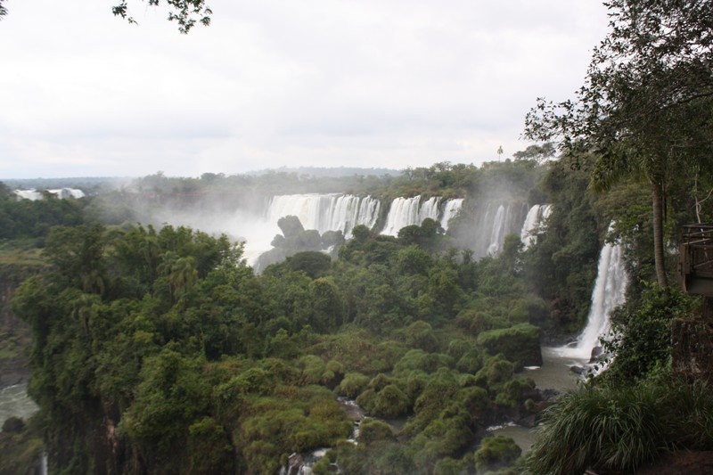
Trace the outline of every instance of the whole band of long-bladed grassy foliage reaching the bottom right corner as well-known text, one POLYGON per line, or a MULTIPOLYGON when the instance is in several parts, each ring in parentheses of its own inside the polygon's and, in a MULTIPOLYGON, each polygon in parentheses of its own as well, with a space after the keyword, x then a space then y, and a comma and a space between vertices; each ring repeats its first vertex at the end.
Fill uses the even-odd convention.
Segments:
POLYGON ((574 390, 545 412, 527 456, 528 473, 635 471, 673 448, 711 447, 713 405, 706 388, 664 377, 574 390))

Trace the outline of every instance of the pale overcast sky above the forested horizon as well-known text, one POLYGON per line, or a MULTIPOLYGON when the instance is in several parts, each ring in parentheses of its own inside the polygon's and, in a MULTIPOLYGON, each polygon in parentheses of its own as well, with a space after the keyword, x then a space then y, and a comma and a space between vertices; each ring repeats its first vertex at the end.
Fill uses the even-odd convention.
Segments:
POLYGON ((6 0, 0 179, 505 159, 583 84, 600 0, 6 0))

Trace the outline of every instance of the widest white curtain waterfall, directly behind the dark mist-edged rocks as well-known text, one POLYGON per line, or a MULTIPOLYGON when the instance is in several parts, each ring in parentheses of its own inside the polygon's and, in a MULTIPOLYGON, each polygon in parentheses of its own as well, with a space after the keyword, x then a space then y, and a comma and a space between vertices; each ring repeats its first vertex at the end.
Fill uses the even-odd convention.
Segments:
POLYGON ((366 196, 351 194, 286 194, 273 197, 267 210, 267 220, 276 223, 285 216, 299 217, 305 229, 351 233, 356 225, 369 229, 379 218, 381 203, 366 196))

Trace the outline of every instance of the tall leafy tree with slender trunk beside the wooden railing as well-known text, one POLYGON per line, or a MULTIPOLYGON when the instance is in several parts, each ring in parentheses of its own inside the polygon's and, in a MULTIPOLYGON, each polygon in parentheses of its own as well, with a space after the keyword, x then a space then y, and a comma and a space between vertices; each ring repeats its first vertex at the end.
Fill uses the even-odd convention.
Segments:
POLYGON ((709 0, 611 0, 611 31, 594 49, 577 100, 537 100, 525 135, 557 141, 572 167, 594 153, 590 187, 625 176, 652 189, 656 277, 667 288, 665 199, 676 176, 713 152, 713 15, 709 0))

